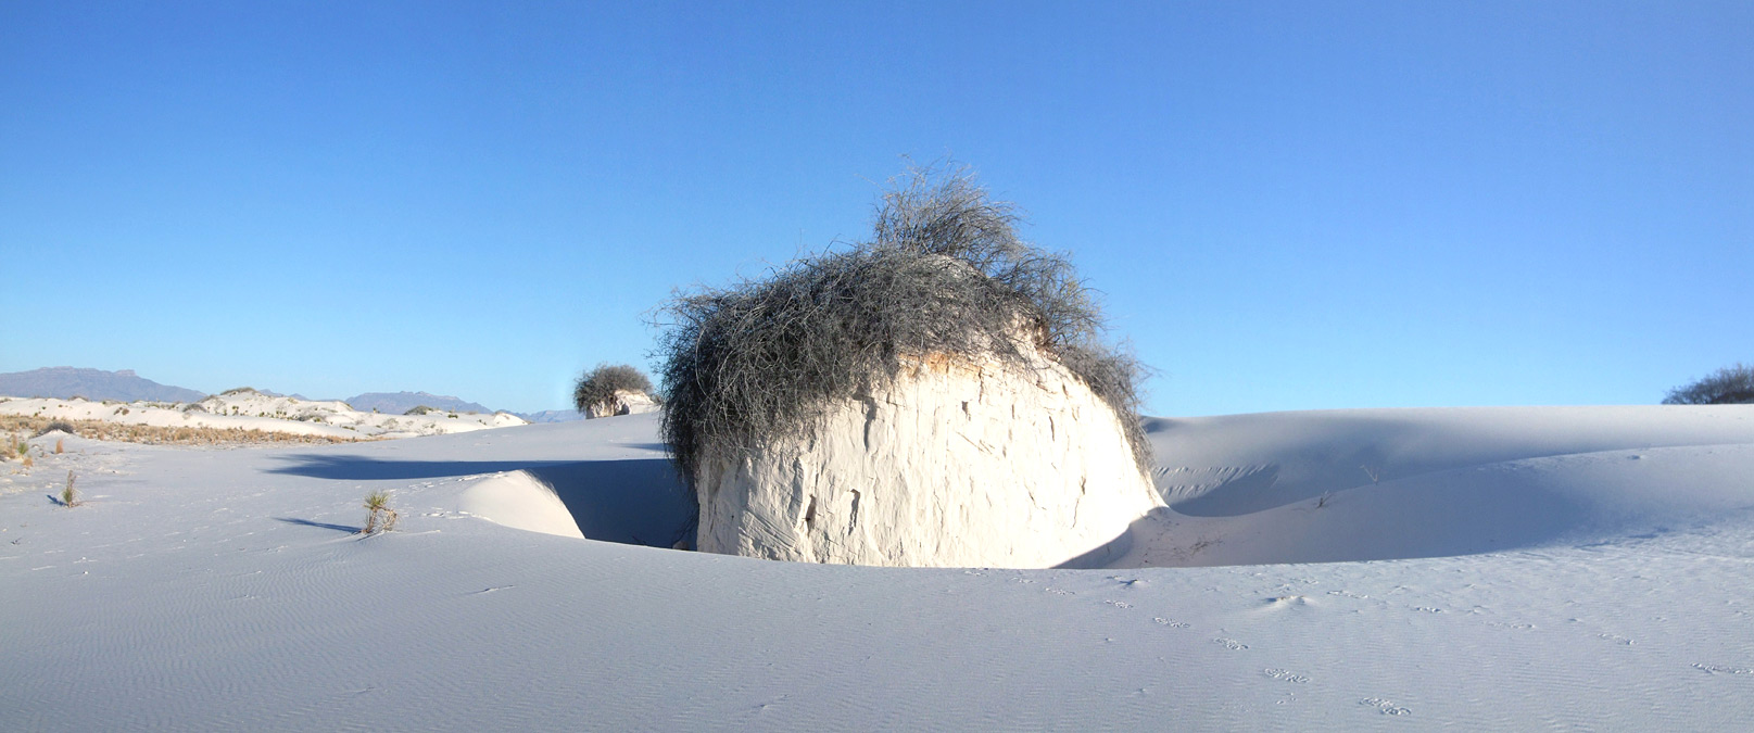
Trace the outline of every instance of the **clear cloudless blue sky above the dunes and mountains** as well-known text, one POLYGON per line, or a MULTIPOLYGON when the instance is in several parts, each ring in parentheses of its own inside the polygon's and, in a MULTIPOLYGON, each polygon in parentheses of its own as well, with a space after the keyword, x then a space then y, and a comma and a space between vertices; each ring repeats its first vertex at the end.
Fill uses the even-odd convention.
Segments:
POLYGON ((0 372, 567 407, 952 156, 1149 414, 1754 361, 1754 5, 0 4, 0 372))

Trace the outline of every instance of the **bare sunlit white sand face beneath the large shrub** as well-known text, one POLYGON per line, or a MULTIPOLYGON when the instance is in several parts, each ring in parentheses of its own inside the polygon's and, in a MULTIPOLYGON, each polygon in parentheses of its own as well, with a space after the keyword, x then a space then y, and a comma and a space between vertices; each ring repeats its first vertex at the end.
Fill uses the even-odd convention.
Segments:
POLYGON ((1045 568, 1161 507, 1114 410, 1044 358, 931 356, 695 486, 700 551, 809 563, 1045 568))

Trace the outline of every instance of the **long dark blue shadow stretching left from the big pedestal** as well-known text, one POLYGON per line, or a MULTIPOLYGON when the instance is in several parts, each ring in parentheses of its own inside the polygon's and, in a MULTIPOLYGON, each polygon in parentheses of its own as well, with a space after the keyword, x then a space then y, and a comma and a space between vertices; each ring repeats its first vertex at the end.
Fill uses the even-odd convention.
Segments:
POLYGON ((407 480, 524 472, 547 484, 586 538, 675 547, 695 540, 695 493, 663 458, 621 461, 395 461, 298 454, 270 473, 332 480, 407 480))

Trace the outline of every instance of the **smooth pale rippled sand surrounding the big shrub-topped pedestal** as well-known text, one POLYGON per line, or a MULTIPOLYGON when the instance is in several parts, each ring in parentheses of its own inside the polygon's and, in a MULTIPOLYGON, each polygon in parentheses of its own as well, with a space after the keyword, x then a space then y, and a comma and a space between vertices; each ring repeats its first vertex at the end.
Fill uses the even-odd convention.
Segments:
POLYGON ((1170 509, 1087 570, 665 549, 693 502, 656 416, 251 451, 51 433, 0 496, 0 729, 1754 717, 1754 407, 1149 430, 1170 509), (86 505, 46 496, 68 470, 86 505), (402 524, 360 537, 374 489, 402 524))

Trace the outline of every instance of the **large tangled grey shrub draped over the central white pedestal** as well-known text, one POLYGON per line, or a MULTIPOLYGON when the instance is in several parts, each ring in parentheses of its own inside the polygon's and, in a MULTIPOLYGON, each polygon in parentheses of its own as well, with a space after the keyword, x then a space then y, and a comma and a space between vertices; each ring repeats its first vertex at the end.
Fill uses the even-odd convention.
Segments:
POLYGON ((684 477, 709 451, 800 435, 835 400, 924 354, 1028 368, 1056 359, 1114 409, 1140 470, 1142 366, 1105 345, 1102 309, 1066 256, 1017 238, 1019 216, 966 168, 912 168, 882 196, 873 238, 766 279, 677 293, 660 312, 663 435, 684 477))

